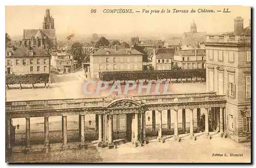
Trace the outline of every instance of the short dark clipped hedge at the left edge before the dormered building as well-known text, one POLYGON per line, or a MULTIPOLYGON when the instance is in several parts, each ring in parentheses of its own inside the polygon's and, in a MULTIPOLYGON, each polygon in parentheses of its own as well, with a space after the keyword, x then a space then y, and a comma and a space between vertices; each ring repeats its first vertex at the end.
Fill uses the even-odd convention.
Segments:
POLYGON ((48 83, 49 74, 6 75, 5 82, 8 85, 48 83))

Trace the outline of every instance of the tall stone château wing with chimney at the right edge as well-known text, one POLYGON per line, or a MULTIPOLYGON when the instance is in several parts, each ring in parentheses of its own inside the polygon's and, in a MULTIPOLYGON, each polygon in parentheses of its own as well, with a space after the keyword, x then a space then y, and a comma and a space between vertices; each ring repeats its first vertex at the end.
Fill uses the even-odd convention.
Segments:
POLYGON ((251 136, 251 26, 234 19, 234 32, 206 39, 207 91, 227 95, 227 136, 238 142, 251 136))

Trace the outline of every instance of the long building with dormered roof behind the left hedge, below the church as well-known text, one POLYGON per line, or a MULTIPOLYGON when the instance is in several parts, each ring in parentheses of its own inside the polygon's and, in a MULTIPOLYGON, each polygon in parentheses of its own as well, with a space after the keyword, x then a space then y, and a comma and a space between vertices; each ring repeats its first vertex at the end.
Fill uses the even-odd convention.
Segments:
POLYGON ((50 54, 41 47, 8 47, 5 70, 7 75, 48 74, 50 54))

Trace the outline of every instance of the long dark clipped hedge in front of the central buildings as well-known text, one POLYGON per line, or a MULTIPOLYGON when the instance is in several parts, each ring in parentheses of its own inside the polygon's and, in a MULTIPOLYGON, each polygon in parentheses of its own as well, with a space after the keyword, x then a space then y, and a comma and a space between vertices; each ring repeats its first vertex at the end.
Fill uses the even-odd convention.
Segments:
POLYGON ((125 80, 158 80, 158 79, 187 79, 206 78, 205 68, 173 69, 173 70, 139 70, 139 71, 104 71, 99 73, 102 81, 125 80))

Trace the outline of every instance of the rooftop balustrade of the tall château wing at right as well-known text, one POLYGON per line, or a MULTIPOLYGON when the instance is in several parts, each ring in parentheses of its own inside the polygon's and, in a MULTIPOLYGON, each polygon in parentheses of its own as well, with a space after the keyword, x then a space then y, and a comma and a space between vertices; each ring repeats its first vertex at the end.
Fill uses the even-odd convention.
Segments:
POLYGON ((243 43, 251 42, 250 35, 208 35, 206 36, 207 42, 228 42, 228 43, 243 43))

